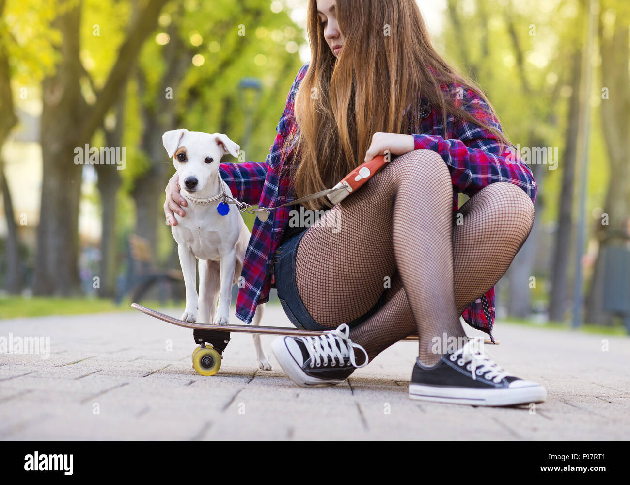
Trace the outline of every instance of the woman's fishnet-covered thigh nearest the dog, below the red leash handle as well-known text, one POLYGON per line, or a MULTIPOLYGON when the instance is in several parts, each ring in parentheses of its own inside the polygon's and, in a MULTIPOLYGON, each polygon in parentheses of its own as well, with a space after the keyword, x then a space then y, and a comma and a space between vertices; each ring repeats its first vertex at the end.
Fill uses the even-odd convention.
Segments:
MULTIPOLYGON (((412 151, 388 163, 357 194, 324 213, 297 248, 295 279, 311 317, 331 327, 365 315, 391 288, 396 272, 392 219, 396 178, 430 170, 427 151, 412 151), (401 170, 401 167, 405 170, 401 170)), ((439 159, 439 163, 444 163, 439 159)), ((419 213, 409 218, 421 217, 419 213)), ((413 250, 413 248, 410 248, 413 250)))

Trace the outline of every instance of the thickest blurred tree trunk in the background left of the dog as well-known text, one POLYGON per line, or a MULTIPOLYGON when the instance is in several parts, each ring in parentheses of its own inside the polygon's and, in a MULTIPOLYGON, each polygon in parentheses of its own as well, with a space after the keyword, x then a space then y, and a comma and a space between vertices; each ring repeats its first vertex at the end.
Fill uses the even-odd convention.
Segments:
POLYGON ((79 77, 81 4, 55 19, 62 35, 56 73, 42 83, 42 202, 37 233, 36 295, 79 293, 79 196, 83 167, 72 163, 76 127, 84 120, 79 77))

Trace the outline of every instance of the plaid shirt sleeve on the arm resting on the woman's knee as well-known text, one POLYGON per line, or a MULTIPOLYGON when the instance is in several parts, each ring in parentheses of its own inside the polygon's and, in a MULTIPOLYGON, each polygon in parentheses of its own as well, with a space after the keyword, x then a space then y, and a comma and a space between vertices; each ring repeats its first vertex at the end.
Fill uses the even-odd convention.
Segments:
MULTIPOLYGON (((483 98, 473 90, 466 91, 463 108, 475 119, 501 130, 501 126, 483 98)), ((447 126, 450 125, 447 124, 447 126)), ((454 124, 454 136, 413 134, 414 148, 430 149, 442 156, 449 167, 455 189, 469 197, 495 182, 518 185, 536 200, 537 186, 531 170, 513 146, 501 149, 496 136, 487 129, 461 120, 454 124)))

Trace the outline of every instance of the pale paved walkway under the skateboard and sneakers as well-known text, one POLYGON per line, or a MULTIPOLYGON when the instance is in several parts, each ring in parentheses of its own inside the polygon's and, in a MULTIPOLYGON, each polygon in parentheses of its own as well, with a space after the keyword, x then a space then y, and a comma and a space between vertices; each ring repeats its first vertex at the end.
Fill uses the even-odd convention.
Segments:
MULTIPOLYGON (((290 326, 279 305, 264 323, 290 326)), ((192 332, 139 312, 1 321, 0 341, 9 333, 50 337, 50 357, 0 354, 1 440, 621 440, 630 429, 628 337, 499 322, 493 356, 547 387, 529 409, 410 400, 413 342, 347 383, 302 389, 278 366, 273 337, 263 337, 272 371, 257 370, 251 337, 234 334, 219 373, 202 377, 192 332)))

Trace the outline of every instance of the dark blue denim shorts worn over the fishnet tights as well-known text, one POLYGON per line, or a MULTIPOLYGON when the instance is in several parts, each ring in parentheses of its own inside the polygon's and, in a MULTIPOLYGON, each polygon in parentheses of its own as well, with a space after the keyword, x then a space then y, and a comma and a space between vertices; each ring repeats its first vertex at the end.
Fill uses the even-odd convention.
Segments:
MULTIPOLYGON (((278 246, 275 254, 273 255, 273 274, 275 279, 275 286, 278 292, 278 300, 282 304, 287 317, 291 320, 291 323, 295 327, 304 330, 330 330, 330 327, 324 327, 319 325, 309 312, 304 307, 302 298, 300 298, 297 292, 297 283, 295 281, 295 255, 297 254, 297 245, 299 245, 302 236, 305 231, 289 238, 282 242, 278 246)), ((379 308, 385 304, 386 291, 383 291, 381 298, 377 301, 374 307, 370 308, 365 315, 352 320, 352 322, 345 322, 348 327, 356 327, 361 324, 367 318, 376 313, 379 308)))

